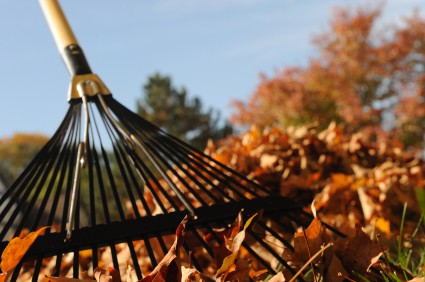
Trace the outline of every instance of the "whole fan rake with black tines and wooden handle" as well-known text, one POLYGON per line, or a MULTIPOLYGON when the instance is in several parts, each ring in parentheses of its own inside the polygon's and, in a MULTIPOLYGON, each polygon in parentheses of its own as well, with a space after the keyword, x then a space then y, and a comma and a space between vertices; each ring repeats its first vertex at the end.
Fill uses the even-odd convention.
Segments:
POLYGON ((252 267, 293 272, 282 258, 283 248, 293 250, 285 234, 310 216, 115 100, 92 73, 59 3, 40 4, 71 75, 70 106, 0 198, 0 251, 22 232, 51 226, 12 280, 25 280, 25 273, 33 281, 44 275, 79 278, 108 264, 121 275, 130 265, 140 279, 167 253, 185 215, 183 247, 193 266, 208 271, 214 246, 222 243, 216 228, 228 226, 242 209, 247 216, 262 213, 243 243, 252 267))

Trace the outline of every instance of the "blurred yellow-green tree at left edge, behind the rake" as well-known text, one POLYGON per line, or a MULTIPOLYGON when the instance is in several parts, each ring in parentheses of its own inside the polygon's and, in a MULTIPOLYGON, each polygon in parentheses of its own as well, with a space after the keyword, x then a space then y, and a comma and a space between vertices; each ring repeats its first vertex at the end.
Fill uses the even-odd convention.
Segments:
POLYGON ((44 135, 30 133, 0 139, 0 169, 15 179, 47 141, 44 135))

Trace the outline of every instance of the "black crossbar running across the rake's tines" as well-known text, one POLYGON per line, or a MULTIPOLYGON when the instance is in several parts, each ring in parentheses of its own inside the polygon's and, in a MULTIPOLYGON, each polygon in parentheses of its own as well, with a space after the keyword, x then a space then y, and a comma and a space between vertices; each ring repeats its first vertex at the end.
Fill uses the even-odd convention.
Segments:
MULTIPOLYGON (((282 212, 299 212, 299 209, 300 207, 294 205, 292 201, 279 196, 217 204, 196 209, 197 219, 189 221, 187 229, 201 228, 205 224, 211 223, 219 226, 222 222, 234 220, 240 210, 243 210, 244 214, 248 215, 261 210, 262 216, 268 216, 282 212)), ((40 256, 67 253, 75 249, 84 250, 93 245, 103 247, 111 243, 118 244, 128 240, 134 241, 155 237, 154 234, 172 234, 186 214, 186 212, 180 211, 102 224, 95 227, 84 227, 76 230, 73 233, 72 240, 69 241, 66 240, 65 232, 48 233, 37 238, 25 257, 31 260, 40 256)), ((4 250, 7 244, 8 242, 0 244, 0 252, 4 250)))

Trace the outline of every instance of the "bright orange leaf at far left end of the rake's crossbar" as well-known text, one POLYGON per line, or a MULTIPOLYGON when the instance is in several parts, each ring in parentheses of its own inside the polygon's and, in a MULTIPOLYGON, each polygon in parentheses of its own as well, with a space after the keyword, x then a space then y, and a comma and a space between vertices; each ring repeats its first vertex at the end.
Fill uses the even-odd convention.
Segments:
POLYGON ((3 272, 13 270, 35 242, 37 237, 47 228, 49 227, 41 227, 37 231, 29 233, 22 239, 19 237, 13 238, 1 255, 0 267, 3 272))

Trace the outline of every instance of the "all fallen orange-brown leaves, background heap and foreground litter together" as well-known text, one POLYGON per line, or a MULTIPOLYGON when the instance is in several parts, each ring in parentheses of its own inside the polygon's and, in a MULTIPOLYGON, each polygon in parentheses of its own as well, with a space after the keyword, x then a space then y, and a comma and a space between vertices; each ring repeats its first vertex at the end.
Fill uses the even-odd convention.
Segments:
MULTIPOLYGON (((219 144, 210 143, 206 153, 313 212, 309 227, 292 234, 294 251, 282 253, 297 273, 282 268, 270 275, 250 266, 242 242, 261 214, 245 221, 240 214, 227 230, 215 230, 223 244, 216 246, 218 255, 210 273, 195 269, 181 250, 183 241, 190 241, 185 237, 185 219, 158 266, 146 270, 143 259, 139 260, 143 273, 150 273, 140 281, 423 281, 419 277, 425 274, 425 221, 421 222, 425 164, 420 158, 393 144, 377 145, 361 135, 345 135, 335 124, 320 132, 314 127, 286 131, 253 127, 219 144), (324 223, 349 236, 336 238, 324 223)), ((3 253, 0 279, 7 279, 28 247, 25 243, 19 251, 3 253), (14 264, 5 267, 8 256, 14 264)), ((143 246, 138 250, 142 252, 143 246)), ((117 249, 118 256, 126 252, 117 249)), ((103 252, 100 267, 81 279, 137 281, 131 268, 120 272, 108 268, 111 256, 103 252)), ((46 281, 76 281, 63 278, 69 277, 67 273, 60 276, 48 276, 46 281)))

